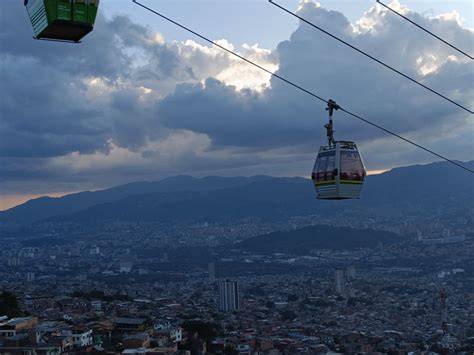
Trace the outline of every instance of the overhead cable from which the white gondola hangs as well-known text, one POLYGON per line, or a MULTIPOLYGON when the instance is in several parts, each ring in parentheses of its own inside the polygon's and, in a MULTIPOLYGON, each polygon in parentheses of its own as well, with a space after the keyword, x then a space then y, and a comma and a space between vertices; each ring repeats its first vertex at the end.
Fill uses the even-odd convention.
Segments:
MULTIPOLYGON (((306 93, 306 94, 308 94, 308 95, 310 95, 310 96, 312 96, 312 97, 318 99, 319 101, 324 102, 324 103, 328 103, 329 100, 326 100, 326 99, 322 98, 321 96, 315 94, 314 92, 312 92, 312 91, 310 91, 310 90, 308 90, 308 89, 305 89, 305 88, 303 88, 302 86, 300 86, 300 85, 298 85, 298 84, 295 84, 294 82, 292 82, 292 81, 290 81, 290 80, 288 80, 288 79, 282 77, 282 76, 279 75, 279 74, 276 74, 276 73, 272 72, 271 70, 268 70, 268 69, 262 67, 261 65, 259 65, 259 64, 255 63, 255 62, 251 61, 250 59, 247 59, 247 58, 241 56, 240 54, 235 53, 234 51, 232 51, 232 50, 230 50, 230 49, 228 49, 228 48, 226 48, 226 47, 224 47, 224 46, 222 46, 222 45, 220 45, 220 44, 214 42, 213 40, 211 40, 211 39, 209 39, 209 38, 207 38, 207 37, 205 37, 205 36, 199 34, 199 33, 196 32, 196 31, 193 31, 192 29, 190 29, 190 28, 188 28, 188 27, 186 27, 186 26, 180 24, 179 22, 176 22, 176 21, 170 19, 169 17, 166 17, 165 15, 163 15, 163 14, 161 14, 161 13, 159 13, 159 12, 153 10, 152 8, 150 8, 150 7, 146 6, 146 5, 143 5, 142 3, 138 2, 137 0, 132 0, 132 1, 133 1, 135 4, 137 4, 138 6, 141 6, 142 8, 144 8, 145 10, 148 10, 148 11, 150 11, 151 13, 153 13, 153 14, 155 14, 155 15, 157 15, 157 16, 163 18, 163 19, 165 19, 166 21, 171 22, 172 24, 174 24, 174 25, 176 25, 176 26, 178 26, 178 27, 181 27, 183 30, 186 30, 186 31, 192 33, 193 35, 195 35, 195 36, 197 36, 197 37, 203 39, 204 41, 206 41, 206 42, 208 42, 208 43, 210 43, 210 44, 212 44, 212 45, 214 45, 214 46, 216 46, 216 47, 218 47, 218 48, 220 48, 220 49, 226 51, 227 53, 232 54, 233 56, 235 56, 235 57, 237 57, 237 58, 239 58, 239 59, 242 59, 243 61, 245 61, 245 62, 247 62, 247 63, 253 65, 254 67, 257 67, 257 68, 263 70, 264 72, 266 72, 266 73, 268 73, 268 74, 274 76, 274 77, 277 78, 277 79, 280 79, 281 81, 284 81, 285 83, 287 83, 287 84, 289 84, 289 85, 291 85, 291 86, 297 88, 298 90, 303 91, 304 93, 306 93)), ((340 107, 339 109, 340 109, 341 111, 347 113, 348 115, 350 115, 350 116, 352 116, 352 117, 354 117, 354 118, 357 118, 358 120, 361 120, 362 122, 365 122, 365 123, 367 123, 367 124, 369 124, 369 125, 371 125, 371 126, 373 126, 373 127, 375 127, 375 128, 378 128, 379 130, 381 130, 381 131, 383 131, 383 132, 385 132, 385 133, 388 133, 388 134, 390 134, 390 135, 392 135, 392 136, 394 136, 394 137, 397 137, 397 138, 399 138, 399 139, 405 141, 406 143, 409 143, 409 144, 411 144, 411 145, 413 145, 413 146, 415 146, 415 147, 417 147, 417 148, 419 148, 419 149, 424 150, 425 152, 428 152, 428 153, 430 153, 430 154, 432 154, 432 155, 434 155, 434 156, 436 156, 436 157, 438 157, 438 158, 440 158, 440 159, 442 159, 442 160, 445 160, 445 161, 447 161, 447 162, 449 162, 449 163, 451 163, 451 164, 453 164, 453 165, 455 165, 455 166, 457 166, 457 167, 459 167, 459 168, 461 168, 461 169, 464 169, 464 170, 466 170, 466 171, 468 171, 468 172, 474 174, 474 170, 469 169, 468 167, 465 167, 464 165, 461 165, 461 164, 459 164, 458 162, 456 162, 456 161, 454 161, 454 160, 451 160, 451 159, 449 159, 449 158, 446 158, 446 157, 444 157, 443 155, 438 154, 438 153, 432 151, 431 149, 425 148, 425 147, 423 147, 422 145, 420 145, 420 144, 418 144, 418 143, 415 143, 415 142, 411 141, 411 140, 408 139, 408 138, 405 138, 405 137, 403 137, 403 136, 401 136, 401 135, 399 135, 399 134, 397 134, 397 133, 395 133, 395 132, 392 132, 392 131, 390 131, 390 130, 388 130, 388 129, 386 129, 386 128, 384 128, 384 127, 382 127, 382 126, 380 126, 380 125, 378 125, 378 124, 376 124, 376 123, 373 123, 373 122, 371 122, 371 121, 369 121, 369 120, 367 120, 367 119, 365 119, 365 118, 363 118, 363 117, 361 117, 361 116, 359 116, 359 115, 357 115, 357 114, 355 114, 355 113, 352 113, 352 112, 350 112, 350 111, 344 109, 343 107, 340 107)))

